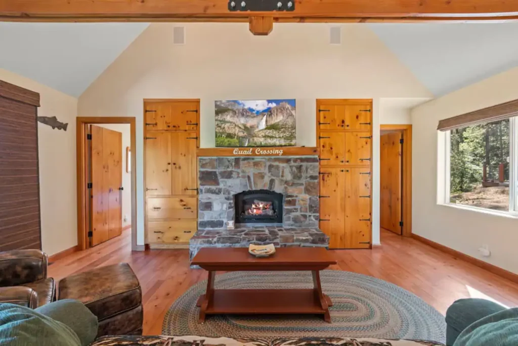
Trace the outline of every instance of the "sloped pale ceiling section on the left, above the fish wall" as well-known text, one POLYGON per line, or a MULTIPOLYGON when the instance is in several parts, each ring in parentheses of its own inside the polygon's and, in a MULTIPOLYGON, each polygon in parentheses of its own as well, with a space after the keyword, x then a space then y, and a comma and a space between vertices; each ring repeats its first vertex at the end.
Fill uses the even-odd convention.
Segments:
POLYGON ((78 97, 148 25, 0 22, 0 68, 78 97))

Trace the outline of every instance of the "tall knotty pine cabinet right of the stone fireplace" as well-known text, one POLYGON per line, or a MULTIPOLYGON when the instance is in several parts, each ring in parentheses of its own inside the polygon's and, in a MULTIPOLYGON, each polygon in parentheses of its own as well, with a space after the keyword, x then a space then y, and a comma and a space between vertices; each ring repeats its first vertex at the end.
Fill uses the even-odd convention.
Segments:
POLYGON ((329 248, 370 248, 372 100, 317 100, 320 229, 329 248))

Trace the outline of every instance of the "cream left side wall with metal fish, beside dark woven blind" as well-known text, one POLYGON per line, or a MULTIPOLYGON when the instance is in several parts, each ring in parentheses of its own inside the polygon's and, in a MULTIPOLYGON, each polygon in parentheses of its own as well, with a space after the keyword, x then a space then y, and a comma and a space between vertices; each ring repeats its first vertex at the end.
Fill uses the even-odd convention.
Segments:
POLYGON ((50 256, 77 245, 77 99, 2 68, 0 80, 38 92, 38 116, 68 122, 66 132, 38 122, 41 243, 50 256))

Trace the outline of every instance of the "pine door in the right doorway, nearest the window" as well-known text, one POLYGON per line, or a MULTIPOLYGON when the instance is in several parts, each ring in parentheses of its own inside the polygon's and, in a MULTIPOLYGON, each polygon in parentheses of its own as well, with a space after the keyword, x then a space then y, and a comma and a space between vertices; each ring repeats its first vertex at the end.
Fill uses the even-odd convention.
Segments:
POLYGON ((380 136, 380 226, 401 234, 402 133, 380 136))

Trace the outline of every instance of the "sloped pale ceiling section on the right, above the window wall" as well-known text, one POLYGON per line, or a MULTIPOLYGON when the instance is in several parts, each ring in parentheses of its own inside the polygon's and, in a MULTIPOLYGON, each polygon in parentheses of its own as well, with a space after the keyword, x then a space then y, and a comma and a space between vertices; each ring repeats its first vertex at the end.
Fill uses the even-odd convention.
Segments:
POLYGON ((518 23, 368 24, 441 96, 518 66, 518 23))

